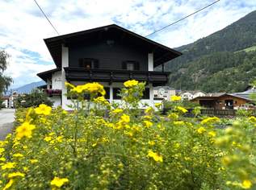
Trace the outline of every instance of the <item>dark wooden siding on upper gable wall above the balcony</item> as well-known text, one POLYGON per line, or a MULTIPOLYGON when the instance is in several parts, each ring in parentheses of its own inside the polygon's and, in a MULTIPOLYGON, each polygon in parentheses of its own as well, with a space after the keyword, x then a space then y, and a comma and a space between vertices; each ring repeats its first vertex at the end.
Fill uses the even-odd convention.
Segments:
POLYGON ((69 45, 69 67, 79 67, 80 58, 99 60, 99 69, 122 69, 125 60, 135 60, 140 64, 140 71, 148 71, 148 52, 114 41, 111 45, 107 40, 69 45))

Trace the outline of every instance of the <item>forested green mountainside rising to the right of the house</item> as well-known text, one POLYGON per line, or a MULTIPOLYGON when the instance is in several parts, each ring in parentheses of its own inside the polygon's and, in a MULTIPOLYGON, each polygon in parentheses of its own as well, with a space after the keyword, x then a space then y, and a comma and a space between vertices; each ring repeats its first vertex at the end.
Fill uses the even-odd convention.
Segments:
POLYGON ((256 10, 176 49, 183 56, 166 64, 170 86, 207 93, 242 91, 256 77, 256 10))

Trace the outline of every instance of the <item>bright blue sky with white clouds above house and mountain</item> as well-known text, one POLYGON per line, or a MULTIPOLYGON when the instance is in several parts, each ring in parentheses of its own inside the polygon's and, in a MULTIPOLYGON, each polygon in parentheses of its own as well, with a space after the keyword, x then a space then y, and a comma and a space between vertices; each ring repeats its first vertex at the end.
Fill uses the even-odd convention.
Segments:
MULTIPOLYGON (((118 24, 139 35, 165 27, 215 0, 37 0, 61 34, 118 24)), ((164 31, 150 35, 158 43, 179 47, 227 27, 256 10, 256 0, 220 0, 164 31)), ((56 36, 33 0, 0 0, 0 49, 10 54, 5 72, 11 88, 34 81, 56 68, 44 40, 56 36)))

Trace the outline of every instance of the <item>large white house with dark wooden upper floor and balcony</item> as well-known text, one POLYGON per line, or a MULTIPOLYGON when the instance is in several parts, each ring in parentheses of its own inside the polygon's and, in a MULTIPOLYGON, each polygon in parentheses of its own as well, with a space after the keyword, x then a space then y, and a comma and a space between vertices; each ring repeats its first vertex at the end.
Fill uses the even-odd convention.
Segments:
POLYGON ((120 101, 118 93, 123 82, 130 79, 145 81, 141 102, 153 105, 153 86, 166 85, 170 72, 164 71, 167 61, 180 52, 146 39, 115 24, 44 39, 57 68, 40 72, 47 83, 54 106, 68 109, 65 81, 73 85, 97 81, 109 101, 120 101), (161 67, 156 72, 154 68, 161 67))

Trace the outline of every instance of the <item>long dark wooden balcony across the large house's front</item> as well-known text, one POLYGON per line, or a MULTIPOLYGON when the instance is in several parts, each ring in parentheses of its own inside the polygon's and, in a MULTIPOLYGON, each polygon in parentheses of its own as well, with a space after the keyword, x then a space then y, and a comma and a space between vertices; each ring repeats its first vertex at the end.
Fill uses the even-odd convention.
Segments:
POLYGON ((67 81, 124 82, 131 79, 153 85, 166 85, 170 72, 127 71, 110 69, 64 68, 67 81))

